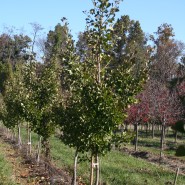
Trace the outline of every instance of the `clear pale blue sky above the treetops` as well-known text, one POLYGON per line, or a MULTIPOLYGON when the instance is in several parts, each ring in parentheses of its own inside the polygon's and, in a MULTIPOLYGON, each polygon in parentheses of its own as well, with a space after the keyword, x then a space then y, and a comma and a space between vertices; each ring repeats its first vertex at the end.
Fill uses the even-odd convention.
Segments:
MULTIPOLYGON (((0 33, 5 27, 15 27, 31 34, 30 23, 36 22, 47 34, 62 17, 66 17, 74 38, 85 29, 86 15, 92 0, 0 0, 0 33)), ((120 4, 121 15, 138 20, 145 33, 152 34, 163 23, 174 28, 175 39, 185 42, 185 0, 124 0, 120 4)))

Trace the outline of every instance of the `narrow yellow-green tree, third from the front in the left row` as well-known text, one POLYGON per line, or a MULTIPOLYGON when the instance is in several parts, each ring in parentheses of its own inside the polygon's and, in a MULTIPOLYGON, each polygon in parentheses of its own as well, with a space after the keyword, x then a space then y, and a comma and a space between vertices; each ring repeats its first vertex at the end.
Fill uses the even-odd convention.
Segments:
POLYGON ((22 102, 24 98, 24 86, 22 66, 16 65, 15 71, 6 83, 6 94, 4 96, 5 114, 4 124, 7 128, 18 127, 18 146, 21 148, 21 123, 24 120, 22 102))

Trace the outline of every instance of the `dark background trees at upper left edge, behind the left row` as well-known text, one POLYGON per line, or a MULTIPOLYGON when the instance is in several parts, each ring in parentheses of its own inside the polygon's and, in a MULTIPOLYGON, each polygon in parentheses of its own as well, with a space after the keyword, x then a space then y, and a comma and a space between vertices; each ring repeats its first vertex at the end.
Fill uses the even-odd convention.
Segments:
POLYGON ((0 35, 0 92, 5 93, 5 83, 11 76, 11 71, 19 63, 25 63, 31 39, 23 34, 3 33, 0 35))

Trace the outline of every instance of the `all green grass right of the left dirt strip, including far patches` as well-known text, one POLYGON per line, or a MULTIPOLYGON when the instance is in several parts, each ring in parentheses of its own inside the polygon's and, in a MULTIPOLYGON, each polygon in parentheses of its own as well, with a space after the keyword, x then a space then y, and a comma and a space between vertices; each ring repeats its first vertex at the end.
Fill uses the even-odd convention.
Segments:
MULTIPOLYGON (((26 131, 22 132, 23 140, 26 140, 26 131)), ((180 143, 183 142, 182 141, 180 143)), ((173 144, 173 138, 167 137, 169 146, 173 144)), ((32 144, 36 148, 38 137, 32 134, 32 144)), ((57 137, 51 137, 51 153, 53 163, 72 174, 74 149, 65 146, 57 137)), ((159 154, 159 136, 155 139, 145 137, 140 133, 139 148, 159 154), (149 147, 150 145, 150 147, 149 147)), ((175 144, 174 144, 175 146, 175 144)), ((129 145, 133 147, 133 145, 129 145)), ((173 147, 171 147, 173 148, 173 147)), ((165 151, 167 155, 173 155, 174 150, 165 151)), ((134 158, 120 151, 112 151, 100 160, 100 180, 107 185, 170 185, 173 184, 175 173, 168 169, 147 162, 146 160, 134 158)), ((78 177, 88 184, 90 164, 88 161, 78 164, 78 177)), ((179 175, 177 185, 185 184, 185 176, 179 175)))

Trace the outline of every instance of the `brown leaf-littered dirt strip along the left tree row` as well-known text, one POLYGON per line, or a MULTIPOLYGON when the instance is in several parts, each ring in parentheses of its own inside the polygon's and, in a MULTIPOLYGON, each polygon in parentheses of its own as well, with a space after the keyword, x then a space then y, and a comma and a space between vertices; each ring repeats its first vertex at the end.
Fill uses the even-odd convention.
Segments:
POLYGON ((7 138, 0 129, 0 143, 6 145, 3 153, 6 159, 12 164, 13 176, 16 183, 21 185, 69 185, 71 176, 62 169, 57 169, 51 163, 41 159, 39 164, 34 157, 28 157, 26 146, 18 149, 12 138, 7 138), (47 170, 46 170, 47 169, 47 170))

